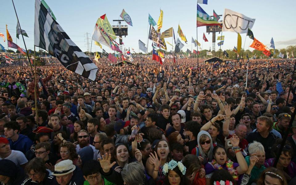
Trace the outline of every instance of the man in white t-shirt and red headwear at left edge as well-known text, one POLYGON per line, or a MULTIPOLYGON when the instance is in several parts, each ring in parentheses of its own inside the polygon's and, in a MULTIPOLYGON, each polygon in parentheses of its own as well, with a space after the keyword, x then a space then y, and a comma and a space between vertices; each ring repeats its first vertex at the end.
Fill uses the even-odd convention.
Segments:
POLYGON ((10 150, 9 141, 4 137, 0 137, 0 160, 2 159, 8 159, 23 168, 28 162, 23 152, 10 150))

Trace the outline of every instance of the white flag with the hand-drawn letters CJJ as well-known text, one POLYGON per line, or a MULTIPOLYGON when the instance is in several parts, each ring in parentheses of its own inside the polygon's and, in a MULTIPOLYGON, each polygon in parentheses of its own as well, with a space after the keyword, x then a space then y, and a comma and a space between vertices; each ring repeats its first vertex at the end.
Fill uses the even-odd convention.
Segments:
POLYGON ((254 23, 255 19, 249 18, 238 12, 225 9, 222 31, 247 33, 248 28, 252 29, 254 23))

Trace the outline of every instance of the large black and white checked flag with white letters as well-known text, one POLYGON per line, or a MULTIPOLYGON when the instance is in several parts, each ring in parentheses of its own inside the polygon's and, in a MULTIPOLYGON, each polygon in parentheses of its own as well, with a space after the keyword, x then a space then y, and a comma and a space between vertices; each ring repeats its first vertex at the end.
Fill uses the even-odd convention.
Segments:
POLYGON ((34 45, 55 56, 68 70, 95 80, 98 68, 69 38, 43 4, 35 0, 34 45))

